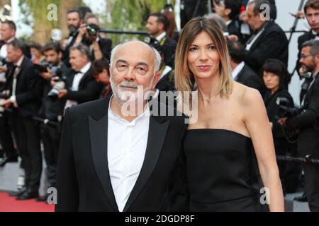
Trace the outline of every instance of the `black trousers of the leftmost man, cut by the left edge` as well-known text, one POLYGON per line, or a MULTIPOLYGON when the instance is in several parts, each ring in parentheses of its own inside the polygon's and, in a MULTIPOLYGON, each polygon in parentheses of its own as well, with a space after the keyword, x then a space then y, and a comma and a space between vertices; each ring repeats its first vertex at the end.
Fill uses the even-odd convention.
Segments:
POLYGON ((9 126, 8 112, 0 113, 0 143, 4 155, 11 157, 17 155, 16 148, 13 145, 13 138, 11 136, 11 128, 9 126))

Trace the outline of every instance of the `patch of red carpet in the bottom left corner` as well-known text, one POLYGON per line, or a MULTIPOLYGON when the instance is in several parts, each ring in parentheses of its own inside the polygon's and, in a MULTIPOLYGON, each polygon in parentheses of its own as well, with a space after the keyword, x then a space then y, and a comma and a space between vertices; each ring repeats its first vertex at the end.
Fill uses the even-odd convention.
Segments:
POLYGON ((37 202, 34 199, 17 201, 16 197, 0 192, 0 212, 53 212, 54 205, 37 202))

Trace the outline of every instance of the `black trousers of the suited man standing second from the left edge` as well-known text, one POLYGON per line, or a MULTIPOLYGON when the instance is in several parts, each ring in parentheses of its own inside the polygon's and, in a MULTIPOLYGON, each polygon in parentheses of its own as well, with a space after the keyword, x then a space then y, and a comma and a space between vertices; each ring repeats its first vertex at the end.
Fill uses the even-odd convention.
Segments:
POLYGON ((12 112, 8 116, 22 158, 25 184, 29 189, 38 191, 42 172, 39 126, 32 117, 23 117, 17 112, 12 112))

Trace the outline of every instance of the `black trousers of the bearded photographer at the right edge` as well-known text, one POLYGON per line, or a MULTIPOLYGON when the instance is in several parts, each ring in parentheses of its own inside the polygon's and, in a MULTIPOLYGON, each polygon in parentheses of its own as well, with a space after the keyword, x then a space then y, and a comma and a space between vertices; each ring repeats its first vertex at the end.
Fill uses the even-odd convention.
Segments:
POLYGON ((303 165, 305 191, 311 212, 319 212, 319 165, 303 165))

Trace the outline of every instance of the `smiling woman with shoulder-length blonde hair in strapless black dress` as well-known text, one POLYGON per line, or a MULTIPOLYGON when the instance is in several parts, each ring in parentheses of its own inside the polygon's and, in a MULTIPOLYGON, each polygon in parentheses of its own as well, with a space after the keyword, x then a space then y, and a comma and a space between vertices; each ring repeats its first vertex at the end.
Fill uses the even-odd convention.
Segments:
MULTIPOLYGON (((191 122, 184 140, 189 209, 283 211, 264 102, 257 90, 233 81, 227 44, 215 21, 198 17, 184 27, 177 44, 175 84, 182 93, 198 91, 191 100, 192 114, 183 111, 191 122), (254 155, 262 190, 252 179, 254 155)), ((179 97, 179 109, 188 109, 186 96, 179 97)))

